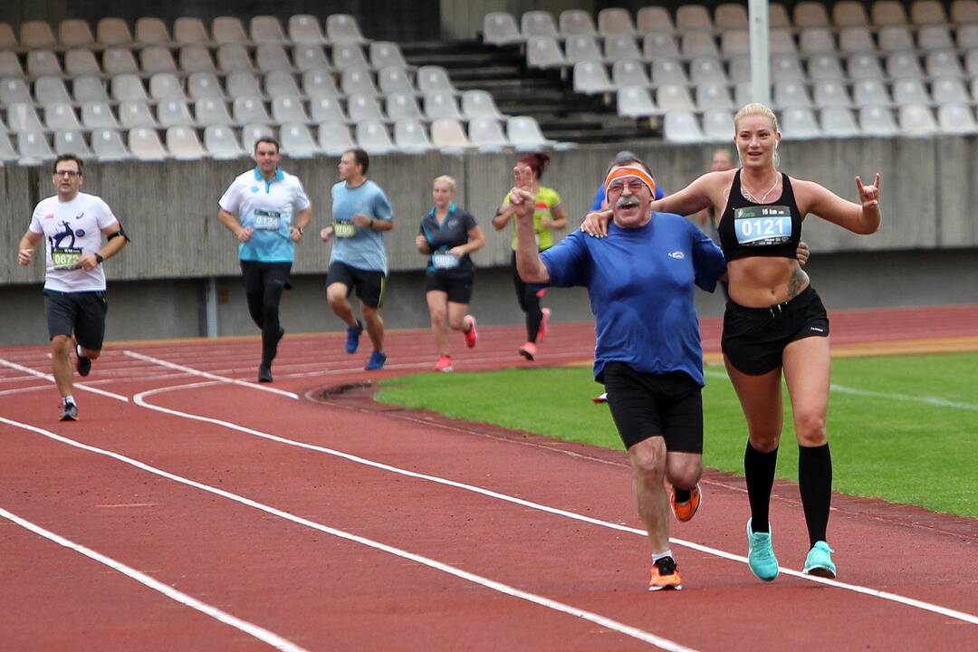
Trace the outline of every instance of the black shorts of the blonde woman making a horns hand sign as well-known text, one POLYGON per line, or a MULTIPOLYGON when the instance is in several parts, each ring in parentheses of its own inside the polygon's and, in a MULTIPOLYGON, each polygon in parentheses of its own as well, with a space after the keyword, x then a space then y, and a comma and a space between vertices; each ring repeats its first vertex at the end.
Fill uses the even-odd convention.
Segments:
POLYGON ((828 315, 811 285, 770 308, 727 302, 721 348, 741 373, 761 375, 778 369, 784 347, 805 337, 828 337, 828 315))

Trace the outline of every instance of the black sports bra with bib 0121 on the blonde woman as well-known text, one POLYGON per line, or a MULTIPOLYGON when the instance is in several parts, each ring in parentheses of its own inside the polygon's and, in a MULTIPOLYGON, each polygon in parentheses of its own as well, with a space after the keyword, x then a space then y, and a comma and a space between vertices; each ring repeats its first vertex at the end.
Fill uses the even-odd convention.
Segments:
POLYGON ((788 175, 781 174, 778 199, 757 203, 740 193, 740 170, 737 170, 717 232, 728 261, 750 256, 797 258, 801 213, 788 175))

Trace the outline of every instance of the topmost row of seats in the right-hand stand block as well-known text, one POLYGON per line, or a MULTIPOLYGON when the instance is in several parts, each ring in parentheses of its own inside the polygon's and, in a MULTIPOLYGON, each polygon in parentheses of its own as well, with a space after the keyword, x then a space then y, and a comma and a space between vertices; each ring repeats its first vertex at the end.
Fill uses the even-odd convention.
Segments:
MULTIPOLYGON (((783 5, 771 3, 769 26, 775 29, 804 29, 808 27, 886 27, 891 25, 948 24, 948 14, 937 0, 915 0, 908 17, 904 5, 896 0, 876 0, 867 16, 862 2, 836 2, 832 7, 832 20, 824 3, 799 2, 794 7, 794 20, 788 18, 783 5)), ((954 0, 951 4, 951 23, 978 22, 978 0, 954 0)), ((676 21, 664 7, 643 7, 633 22, 627 9, 608 8, 598 13, 598 25, 589 12, 566 10, 560 13, 558 22, 544 11, 526 12, 520 24, 506 12, 492 12, 483 19, 483 40, 493 45, 522 43, 534 36, 570 38, 573 36, 610 37, 632 36, 652 32, 673 33, 705 30, 721 33, 731 29, 746 29, 747 10, 744 3, 724 3, 711 17, 702 5, 684 4, 676 11, 676 21)))

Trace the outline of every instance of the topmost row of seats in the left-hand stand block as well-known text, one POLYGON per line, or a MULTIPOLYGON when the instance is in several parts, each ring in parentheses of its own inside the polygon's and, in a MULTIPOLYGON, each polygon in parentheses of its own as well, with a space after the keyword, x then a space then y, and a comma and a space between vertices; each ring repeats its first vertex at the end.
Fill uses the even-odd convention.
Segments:
POLYGON ((179 18, 173 22, 173 34, 166 23, 156 18, 136 21, 135 35, 123 19, 105 18, 98 22, 92 33, 88 22, 68 19, 58 25, 58 36, 51 25, 44 21, 28 21, 21 24, 18 40, 13 27, 0 22, 0 49, 33 50, 37 48, 110 48, 147 47, 151 45, 260 45, 265 43, 323 45, 326 43, 366 43, 356 20, 347 14, 333 14, 326 19, 326 33, 322 23, 314 16, 299 15, 289 18, 288 34, 282 22, 274 16, 256 16, 249 22, 245 33, 241 19, 232 16, 215 18, 210 31, 200 19, 179 18))

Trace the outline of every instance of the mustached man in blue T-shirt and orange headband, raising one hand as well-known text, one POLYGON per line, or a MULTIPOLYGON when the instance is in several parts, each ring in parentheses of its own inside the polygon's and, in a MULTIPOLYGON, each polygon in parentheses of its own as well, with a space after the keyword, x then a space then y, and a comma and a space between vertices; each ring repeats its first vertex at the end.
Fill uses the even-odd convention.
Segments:
POLYGON ((723 252, 686 218, 651 211, 655 182, 636 161, 608 170, 613 222, 606 239, 575 231, 540 253, 532 180, 520 168, 513 175, 516 268, 526 283, 588 288, 598 334, 595 378, 628 450, 652 548, 648 588, 681 588, 668 514, 671 504, 677 519, 689 521, 701 497, 703 354, 694 286, 713 291, 726 274, 723 252), (671 497, 663 479, 673 486, 671 497))

